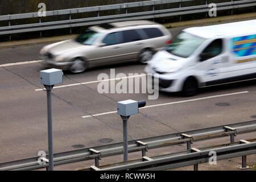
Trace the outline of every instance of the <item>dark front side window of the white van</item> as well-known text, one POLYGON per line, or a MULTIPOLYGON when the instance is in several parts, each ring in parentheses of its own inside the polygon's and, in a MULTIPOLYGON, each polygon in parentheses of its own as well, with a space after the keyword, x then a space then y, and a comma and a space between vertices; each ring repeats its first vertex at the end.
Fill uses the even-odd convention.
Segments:
POLYGON ((202 53, 202 55, 204 55, 205 57, 204 60, 207 60, 219 55, 222 52, 222 49, 223 49, 222 39, 213 40, 213 42, 210 43, 209 46, 207 46, 207 48, 205 48, 202 53))

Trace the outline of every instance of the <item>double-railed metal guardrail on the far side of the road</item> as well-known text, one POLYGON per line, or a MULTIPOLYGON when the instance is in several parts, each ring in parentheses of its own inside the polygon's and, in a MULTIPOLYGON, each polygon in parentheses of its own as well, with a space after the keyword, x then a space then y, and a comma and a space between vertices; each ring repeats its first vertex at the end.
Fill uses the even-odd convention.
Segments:
MULTIPOLYGON (((193 1, 193 0, 154 0, 154 1, 122 3, 122 4, 116 4, 116 5, 84 7, 79 9, 47 11, 46 16, 57 16, 57 15, 67 15, 67 14, 69 15, 68 20, 60 20, 60 21, 53 21, 53 22, 42 22, 42 17, 39 17, 38 13, 3 15, 3 16, 0 16, 0 21, 7 20, 9 22, 9 26, 0 27, 0 35, 10 35, 10 34, 23 33, 23 32, 33 32, 33 31, 54 30, 58 28, 81 27, 81 26, 89 26, 93 24, 119 22, 119 21, 125 21, 125 20, 154 19, 154 18, 160 18, 165 16, 187 15, 187 14, 195 14, 195 13, 204 13, 209 11, 209 6, 207 1, 205 1, 205 5, 181 7, 181 3, 185 1, 193 1), (179 3, 180 6, 178 8, 173 8, 173 9, 155 10, 156 5, 162 5, 167 3, 179 3), (152 6, 151 11, 128 13, 129 8, 131 7, 148 7, 148 6, 152 6), (100 16, 100 11, 119 10, 119 9, 125 9, 125 14, 100 16), (72 14, 79 14, 79 13, 86 13, 86 12, 97 12, 97 16, 92 18, 72 19, 72 14), (27 19, 27 18, 39 18, 39 23, 20 24, 15 26, 11 25, 11 20, 27 19)), ((230 0, 230 2, 217 3, 216 5, 217 5, 217 11, 232 10, 232 9, 238 9, 242 7, 256 6, 256 1, 255 0, 242 0, 242 1, 230 0)))

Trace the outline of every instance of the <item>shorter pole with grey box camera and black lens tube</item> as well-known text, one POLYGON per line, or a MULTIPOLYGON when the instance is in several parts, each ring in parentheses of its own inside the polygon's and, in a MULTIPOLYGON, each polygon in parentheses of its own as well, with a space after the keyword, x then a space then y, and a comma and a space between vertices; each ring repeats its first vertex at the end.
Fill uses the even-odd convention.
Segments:
POLYGON ((128 134, 127 134, 127 121, 131 115, 139 113, 139 108, 146 106, 146 101, 133 101, 126 100, 117 102, 117 114, 123 120, 123 161, 128 160, 128 134))

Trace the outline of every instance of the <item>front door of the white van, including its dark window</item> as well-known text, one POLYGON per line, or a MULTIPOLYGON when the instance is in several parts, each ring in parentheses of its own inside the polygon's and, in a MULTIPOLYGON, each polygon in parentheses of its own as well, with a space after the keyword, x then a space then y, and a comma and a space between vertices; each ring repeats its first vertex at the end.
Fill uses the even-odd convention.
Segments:
POLYGON ((228 63, 228 56, 224 51, 224 40, 213 40, 204 50, 200 53, 200 76, 201 81, 204 82, 203 86, 220 84, 224 78, 223 68, 228 63))

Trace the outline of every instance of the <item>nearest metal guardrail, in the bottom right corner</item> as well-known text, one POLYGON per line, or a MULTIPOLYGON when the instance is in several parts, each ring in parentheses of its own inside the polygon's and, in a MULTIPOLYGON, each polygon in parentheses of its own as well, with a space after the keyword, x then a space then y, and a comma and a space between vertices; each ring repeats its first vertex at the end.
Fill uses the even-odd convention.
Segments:
POLYGON ((101 169, 92 166, 90 169, 86 169, 85 171, 160 171, 192 165, 194 165, 194 170, 198 171, 198 164, 208 163, 209 159, 212 157, 211 154, 213 154, 213 151, 214 154, 216 154, 216 161, 242 156, 241 168, 249 168, 246 166, 246 155, 256 154, 256 142, 240 140, 240 142, 234 146, 210 148, 209 150, 192 148, 190 154, 176 154, 175 156, 163 157, 158 156, 156 159, 144 157, 139 162, 132 161, 128 164, 112 164, 110 167, 105 166, 101 167, 101 169))

